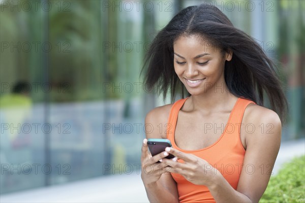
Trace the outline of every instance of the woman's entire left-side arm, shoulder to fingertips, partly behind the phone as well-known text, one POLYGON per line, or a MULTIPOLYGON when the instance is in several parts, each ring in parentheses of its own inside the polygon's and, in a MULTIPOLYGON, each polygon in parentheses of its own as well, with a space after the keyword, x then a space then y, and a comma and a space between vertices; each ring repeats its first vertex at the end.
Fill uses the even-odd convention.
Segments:
MULTIPOLYGON (((146 138, 166 138, 165 130, 160 133, 157 126, 164 127, 168 118, 168 106, 157 107, 149 111, 145 118, 145 126, 149 124, 151 129, 146 130, 146 138), (167 113, 166 113, 167 112, 167 113), (167 115, 166 115, 167 114, 167 115)), ((141 178, 150 202, 178 202, 178 192, 176 182, 170 175, 169 166, 157 163, 167 155, 163 153, 151 157, 148 153, 147 140, 144 139, 142 146, 142 173, 141 178), (147 166, 147 167, 145 167, 147 166), (153 168, 153 171, 151 169, 153 168)))

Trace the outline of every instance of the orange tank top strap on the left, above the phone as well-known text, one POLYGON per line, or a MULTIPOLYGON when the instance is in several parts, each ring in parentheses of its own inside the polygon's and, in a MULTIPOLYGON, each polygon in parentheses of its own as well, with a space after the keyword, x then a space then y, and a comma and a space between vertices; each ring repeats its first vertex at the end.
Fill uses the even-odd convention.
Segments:
POLYGON ((181 109, 181 107, 183 106, 183 104, 185 103, 185 101, 188 99, 184 98, 184 99, 179 99, 177 100, 171 107, 170 109, 170 113, 169 113, 169 117, 168 117, 168 122, 167 122, 167 128, 166 128, 166 138, 167 139, 171 139, 174 135, 174 129, 177 123, 177 117, 178 117, 178 113, 179 110, 181 109))

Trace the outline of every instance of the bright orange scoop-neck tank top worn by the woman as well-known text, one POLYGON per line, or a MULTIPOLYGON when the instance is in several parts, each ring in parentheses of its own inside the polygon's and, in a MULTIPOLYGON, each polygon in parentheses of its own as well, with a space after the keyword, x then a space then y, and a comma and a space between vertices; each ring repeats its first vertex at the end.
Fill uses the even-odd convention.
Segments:
MULTIPOLYGON (((228 183, 236 190, 245 156, 245 149, 240 141, 240 126, 246 107, 255 103, 248 99, 238 98, 229 116, 228 123, 220 138, 211 146, 201 150, 182 150, 176 146, 174 132, 178 112, 189 97, 176 101, 170 110, 168 123, 172 128, 167 130, 167 139, 172 147, 188 154, 194 154, 218 169, 228 183)), ((182 162, 181 160, 178 160, 182 162)), ((195 185, 178 173, 171 173, 177 183, 179 202, 216 202, 208 188, 204 185, 195 185)))

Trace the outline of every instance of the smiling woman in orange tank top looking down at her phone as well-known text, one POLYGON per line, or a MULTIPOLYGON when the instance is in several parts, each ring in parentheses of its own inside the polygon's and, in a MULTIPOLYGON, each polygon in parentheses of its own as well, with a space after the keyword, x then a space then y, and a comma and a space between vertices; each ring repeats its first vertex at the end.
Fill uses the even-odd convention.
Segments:
POLYGON ((146 138, 172 143, 151 157, 143 141, 148 199, 258 202, 279 152, 287 108, 275 65, 261 47, 218 8, 203 4, 173 17, 146 62, 145 82, 164 95, 170 88, 172 103, 176 90, 182 97, 188 93, 146 115, 145 124, 153 126, 146 138), (272 110, 262 106, 264 94, 272 110), (175 158, 166 159, 169 153, 175 158))

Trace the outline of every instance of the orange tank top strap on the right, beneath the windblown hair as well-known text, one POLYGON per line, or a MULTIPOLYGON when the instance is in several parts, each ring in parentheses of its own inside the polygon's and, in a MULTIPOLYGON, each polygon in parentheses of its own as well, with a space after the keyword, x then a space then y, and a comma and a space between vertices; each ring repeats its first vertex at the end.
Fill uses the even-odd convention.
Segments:
POLYGON ((243 113, 245 113, 247 106, 251 103, 255 104, 254 101, 239 97, 237 104, 232 110, 233 112, 231 113, 231 117, 228 124, 240 125, 243 118, 243 113))

